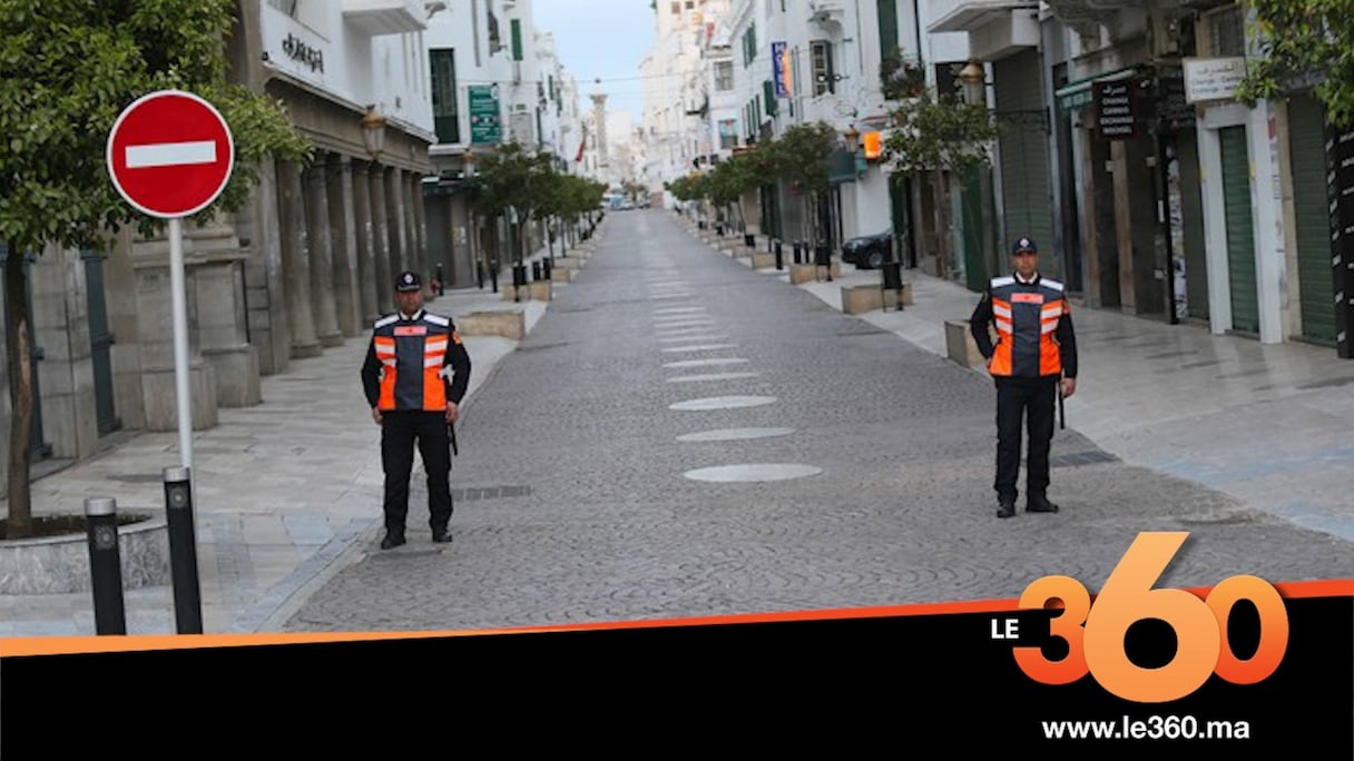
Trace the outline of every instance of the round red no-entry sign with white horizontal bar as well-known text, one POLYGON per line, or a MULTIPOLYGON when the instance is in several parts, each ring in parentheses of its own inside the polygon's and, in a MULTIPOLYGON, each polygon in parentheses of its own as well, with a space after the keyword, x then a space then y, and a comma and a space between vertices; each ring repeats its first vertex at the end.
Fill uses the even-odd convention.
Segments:
POLYGON ((108 176, 127 203, 152 217, 188 217, 221 195, 236 149, 214 106, 162 89, 127 106, 108 133, 108 176))

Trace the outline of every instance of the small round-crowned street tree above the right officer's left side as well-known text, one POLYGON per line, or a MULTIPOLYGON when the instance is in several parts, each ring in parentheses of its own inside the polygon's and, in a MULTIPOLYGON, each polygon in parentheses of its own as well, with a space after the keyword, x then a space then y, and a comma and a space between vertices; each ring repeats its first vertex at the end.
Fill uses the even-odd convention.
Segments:
POLYGON ((999 134, 987 107, 964 103, 956 96, 923 89, 917 97, 903 100, 894 111, 895 129, 884 139, 884 160, 895 172, 929 176, 937 202, 936 260, 940 275, 948 276, 951 236, 949 180, 991 162, 991 145, 999 134))

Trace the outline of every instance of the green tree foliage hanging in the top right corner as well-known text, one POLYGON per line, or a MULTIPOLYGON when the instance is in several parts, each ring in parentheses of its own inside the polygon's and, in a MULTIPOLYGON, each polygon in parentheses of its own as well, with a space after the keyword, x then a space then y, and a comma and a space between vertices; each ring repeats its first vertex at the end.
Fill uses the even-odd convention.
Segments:
POLYGON ((1354 14, 1343 0, 1250 0, 1259 56, 1246 62, 1238 96, 1254 106, 1315 81, 1326 118, 1354 127, 1354 14))

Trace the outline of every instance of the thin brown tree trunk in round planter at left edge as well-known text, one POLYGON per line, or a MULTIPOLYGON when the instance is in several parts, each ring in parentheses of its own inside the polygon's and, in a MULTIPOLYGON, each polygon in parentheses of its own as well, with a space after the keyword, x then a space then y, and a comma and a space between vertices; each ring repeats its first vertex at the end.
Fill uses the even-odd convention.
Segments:
POLYGON ((5 539, 32 535, 32 352, 28 347, 28 282, 23 252, 9 245, 4 265, 5 345, 9 371, 9 512, 5 539))

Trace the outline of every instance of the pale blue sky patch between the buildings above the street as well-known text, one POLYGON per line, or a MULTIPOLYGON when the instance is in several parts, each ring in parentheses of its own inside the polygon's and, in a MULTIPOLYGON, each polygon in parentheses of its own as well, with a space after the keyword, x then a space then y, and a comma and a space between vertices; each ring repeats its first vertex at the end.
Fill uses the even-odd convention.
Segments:
POLYGON ((578 106, 607 93, 607 107, 643 111, 639 61, 654 41, 650 0, 533 0, 536 28, 555 35, 555 54, 578 81, 578 106), (601 79, 601 83, 594 80, 601 79))

